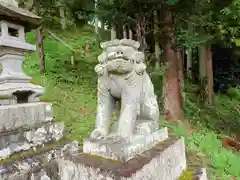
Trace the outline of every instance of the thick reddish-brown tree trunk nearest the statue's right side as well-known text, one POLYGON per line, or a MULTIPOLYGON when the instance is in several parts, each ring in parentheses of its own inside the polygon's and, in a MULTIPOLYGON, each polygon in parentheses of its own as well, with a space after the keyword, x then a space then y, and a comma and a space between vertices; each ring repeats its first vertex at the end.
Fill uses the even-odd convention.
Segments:
POLYGON ((176 52, 172 45, 176 43, 173 39, 173 16, 171 11, 165 11, 164 17, 164 60, 166 63, 166 72, 164 74, 164 110, 165 119, 178 121, 182 119, 182 110, 180 103, 180 83, 178 78, 178 61, 176 52))

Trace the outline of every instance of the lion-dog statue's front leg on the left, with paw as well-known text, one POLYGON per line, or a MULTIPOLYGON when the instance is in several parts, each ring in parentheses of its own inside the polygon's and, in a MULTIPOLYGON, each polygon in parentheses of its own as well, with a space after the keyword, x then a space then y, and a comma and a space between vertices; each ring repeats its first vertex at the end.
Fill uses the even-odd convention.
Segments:
POLYGON ((98 86, 96 128, 92 132, 91 138, 104 139, 109 133, 115 101, 104 84, 99 83, 98 86))

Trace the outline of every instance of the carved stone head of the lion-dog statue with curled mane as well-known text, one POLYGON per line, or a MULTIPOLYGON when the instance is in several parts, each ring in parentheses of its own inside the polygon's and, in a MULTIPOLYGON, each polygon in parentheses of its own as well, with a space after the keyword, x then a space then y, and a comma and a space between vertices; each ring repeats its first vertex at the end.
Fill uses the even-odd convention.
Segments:
POLYGON ((102 54, 98 57, 99 66, 95 71, 103 75, 104 67, 108 74, 126 75, 133 71, 141 74, 146 70, 144 53, 138 51, 137 41, 122 39, 101 43, 102 54))

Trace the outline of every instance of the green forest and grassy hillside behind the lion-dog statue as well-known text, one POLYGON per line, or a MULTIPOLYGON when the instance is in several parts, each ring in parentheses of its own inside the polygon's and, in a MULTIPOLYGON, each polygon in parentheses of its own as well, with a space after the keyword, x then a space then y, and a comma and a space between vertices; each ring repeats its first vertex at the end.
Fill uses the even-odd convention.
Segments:
MULTIPOLYGON (((141 50, 146 52, 148 72, 159 98, 162 118, 187 119, 198 128, 186 132, 176 125, 171 127, 175 133, 180 131, 176 134, 185 137, 187 153, 197 151, 200 158, 210 158, 209 169, 216 178, 240 178, 239 156, 222 148, 219 138, 221 134, 238 136, 240 128, 240 91, 232 88, 240 84, 239 49, 234 47, 240 32, 240 0, 19 2, 21 7, 42 16, 44 28, 51 28, 78 53, 73 67, 72 51, 46 33, 46 73, 39 76, 36 54, 28 56, 25 63, 33 81, 46 87, 43 100, 53 102, 56 117, 65 121, 70 136, 82 140, 94 125, 96 79, 92 71, 101 51, 97 37, 109 40, 102 32, 108 34, 111 29, 111 32, 116 31, 117 38, 123 38, 125 28, 127 36, 132 32, 133 39, 138 40, 141 50), (63 19, 68 30, 56 31, 63 19), (92 27, 74 32, 73 27, 88 21, 101 21, 105 27, 100 31, 96 26, 95 34, 92 27), (213 88, 226 96, 216 93, 210 101, 213 88), (169 109, 165 107, 168 96, 174 104, 168 106, 169 109), (207 104, 206 99, 210 103, 207 104)), ((30 41, 36 41, 32 34, 29 37, 30 41)))

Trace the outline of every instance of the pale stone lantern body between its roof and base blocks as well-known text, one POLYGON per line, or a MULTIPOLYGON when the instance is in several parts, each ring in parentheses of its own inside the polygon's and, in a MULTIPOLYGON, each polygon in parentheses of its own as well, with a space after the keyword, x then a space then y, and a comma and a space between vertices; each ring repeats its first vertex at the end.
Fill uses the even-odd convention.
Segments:
POLYGON ((30 83, 31 77, 22 70, 24 52, 35 51, 36 46, 26 42, 24 26, 1 20, 0 28, 0 99, 15 97, 18 103, 38 101, 44 88, 30 83), (16 35, 11 34, 10 29, 14 29, 16 35))

